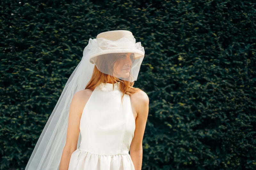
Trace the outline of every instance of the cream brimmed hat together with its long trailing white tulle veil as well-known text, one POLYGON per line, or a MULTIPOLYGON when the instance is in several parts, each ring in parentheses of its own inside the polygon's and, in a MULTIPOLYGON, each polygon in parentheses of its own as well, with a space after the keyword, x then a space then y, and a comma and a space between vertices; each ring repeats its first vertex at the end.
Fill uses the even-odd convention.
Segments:
MULTIPOLYGON (((105 54, 116 53, 134 53, 130 76, 128 78, 120 77, 120 79, 131 82, 137 80, 145 51, 140 42, 135 42, 130 31, 108 31, 98 34, 95 39, 90 38, 88 45, 84 48, 80 63, 68 78, 60 98, 46 122, 25 170, 59 169, 60 159, 66 144, 68 115, 72 98, 76 92, 85 89, 92 77, 93 68, 97 64, 96 58, 105 54)), ((103 70, 105 66, 99 64, 96 66, 101 72, 106 71, 106 69, 103 70)), ((106 74, 111 75, 112 73, 106 71, 106 74)), ((80 142, 81 133, 79 133, 77 148, 80 142)))

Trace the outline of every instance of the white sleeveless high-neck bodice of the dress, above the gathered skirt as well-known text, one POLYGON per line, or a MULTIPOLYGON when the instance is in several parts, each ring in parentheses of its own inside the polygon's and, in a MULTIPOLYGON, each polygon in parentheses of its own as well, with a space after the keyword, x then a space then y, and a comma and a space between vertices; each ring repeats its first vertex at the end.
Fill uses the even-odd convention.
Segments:
POLYGON ((120 82, 101 83, 88 99, 80 119, 80 149, 95 154, 128 154, 135 130, 130 96, 120 82))

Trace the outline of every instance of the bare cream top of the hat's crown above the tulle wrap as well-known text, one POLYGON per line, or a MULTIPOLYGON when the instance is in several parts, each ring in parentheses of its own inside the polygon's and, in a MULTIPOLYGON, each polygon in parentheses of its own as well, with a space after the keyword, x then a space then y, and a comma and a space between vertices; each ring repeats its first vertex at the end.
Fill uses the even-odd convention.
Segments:
POLYGON ((99 33, 96 39, 105 38, 111 41, 116 41, 123 37, 127 37, 130 41, 132 41, 131 39, 131 37, 133 37, 132 32, 128 30, 107 31, 107 32, 99 33))

